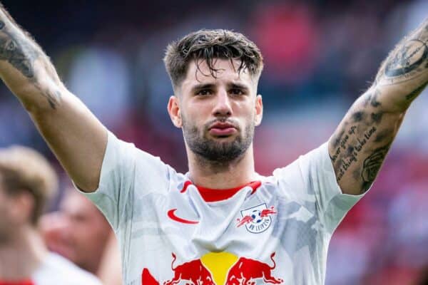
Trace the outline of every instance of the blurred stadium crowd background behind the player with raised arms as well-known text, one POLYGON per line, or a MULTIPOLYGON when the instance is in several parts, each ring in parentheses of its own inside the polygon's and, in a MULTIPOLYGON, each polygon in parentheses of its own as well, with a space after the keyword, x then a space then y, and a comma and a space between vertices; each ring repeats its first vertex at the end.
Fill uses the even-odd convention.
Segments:
MULTIPOLYGON (((187 168, 183 138, 166 113, 172 89, 165 46, 199 28, 245 33, 265 57, 265 118, 255 137, 256 169, 264 175, 325 142, 394 44, 428 16, 425 0, 2 3, 108 128, 181 172, 187 168)), ((372 190, 335 232, 327 285, 419 284, 427 274, 427 93, 408 111, 372 190)), ((1 85, 0 147, 11 144, 44 152, 63 175, 1 85)))

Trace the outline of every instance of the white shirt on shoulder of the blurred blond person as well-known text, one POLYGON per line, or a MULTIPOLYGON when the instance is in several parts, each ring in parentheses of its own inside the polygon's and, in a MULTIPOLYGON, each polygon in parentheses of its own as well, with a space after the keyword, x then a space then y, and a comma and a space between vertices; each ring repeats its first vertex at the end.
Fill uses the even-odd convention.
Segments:
POLYGON ((49 253, 31 279, 35 285, 101 285, 96 276, 54 253, 49 253))

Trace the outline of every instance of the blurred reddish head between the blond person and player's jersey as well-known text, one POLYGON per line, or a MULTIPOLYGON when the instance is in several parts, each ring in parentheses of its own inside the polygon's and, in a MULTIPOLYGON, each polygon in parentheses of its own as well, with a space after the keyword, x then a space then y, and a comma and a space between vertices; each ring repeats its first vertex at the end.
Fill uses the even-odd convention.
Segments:
POLYGON ((58 212, 43 217, 41 229, 49 249, 82 269, 98 274, 113 231, 103 214, 86 197, 69 187, 58 212))

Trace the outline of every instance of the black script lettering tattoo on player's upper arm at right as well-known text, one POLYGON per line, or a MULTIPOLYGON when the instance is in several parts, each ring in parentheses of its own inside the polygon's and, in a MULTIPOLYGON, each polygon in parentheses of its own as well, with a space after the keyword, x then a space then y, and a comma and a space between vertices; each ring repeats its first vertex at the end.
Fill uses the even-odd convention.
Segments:
POLYGON ((390 114, 382 110, 379 94, 377 89, 365 93, 332 138, 334 150, 330 148, 330 159, 337 182, 341 185, 347 177, 347 183, 357 188, 351 192, 364 193, 369 189, 397 133, 397 126, 385 119, 390 114))

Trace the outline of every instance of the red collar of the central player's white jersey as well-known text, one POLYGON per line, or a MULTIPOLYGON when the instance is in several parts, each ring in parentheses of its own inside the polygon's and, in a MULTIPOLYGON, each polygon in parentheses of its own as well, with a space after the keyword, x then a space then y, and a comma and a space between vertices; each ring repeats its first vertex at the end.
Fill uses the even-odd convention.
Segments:
MULTIPOLYGON (((180 192, 184 193, 185 190, 187 190, 187 188, 189 187, 189 185, 192 185, 191 181, 187 180, 186 182, 184 182, 183 189, 180 192)), ((253 195, 254 192, 258 189, 258 187, 260 187, 260 185, 262 185, 261 181, 253 181, 243 186, 230 188, 230 189, 210 189, 210 188, 205 188, 198 185, 195 185, 195 186, 196 188, 198 188, 200 196, 204 199, 205 202, 218 202, 225 199, 229 199, 230 197, 235 195, 239 190, 243 189, 243 187, 246 187, 246 186, 250 186, 251 188, 253 188, 253 191, 251 192, 251 194, 253 195)))

